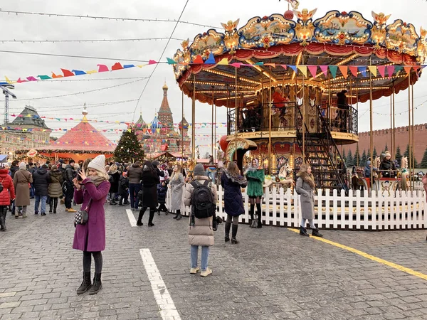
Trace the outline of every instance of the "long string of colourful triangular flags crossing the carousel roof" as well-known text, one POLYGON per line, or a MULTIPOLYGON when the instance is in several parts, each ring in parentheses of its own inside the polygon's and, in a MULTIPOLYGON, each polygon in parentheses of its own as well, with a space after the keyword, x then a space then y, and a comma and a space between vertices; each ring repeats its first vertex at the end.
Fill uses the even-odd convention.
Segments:
MULTIPOLYGON (((164 63, 164 62, 158 62, 156 60, 149 60, 149 63, 143 64, 143 65, 134 65, 134 64, 126 64, 122 65, 120 62, 115 63, 110 68, 105 64, 98 64, 96 69, 93 70, 68 70, 60 68, 61 73, 51 73, 51 75, 37 75, 37 76, 28 76, 26 78, 19 78, 18 80, 10 80, 8 77, 6 78, 5 82, 0 82, 0 85, 7 85, 7 84, 14 84, 14 83, 23 83, 23 82, 33 82, 38 80, 51 80, 51 79, 57 79, 57 78, 65 78, 65 77, 73 77, 76 75, 90 75, 93 73, 103 73, 103 72, 109 72, 109 71, 116 71, 116 70, 123 70, 123 69, 129 69, 129 68, 143 68, 146 65, 155 65, 157 63, 164 63)), ((347 78, 349 73, 354 75, 354 77, 358 77, 359 74, 366 77, 367 71, 372 73, 375 77, 376 75, 381 75, 382 78, 386 77, 386 72, 389 78, 394 75, 394 73, 398 74, 401 72, 401 70, 405 70, 406 73, 410 73, 411 70, 414 70, 418 72, 418 70, 422 70, 423 68, 426 68, 427 65, 287 65, 287 64, 276 64, 276 63, 264 63, 263 61, 260 61, 258 63, 241 63, 241 62, 234 62, 229 63, 228 58, 222 58, 218 63, 216 63, 214 55, 211 53, 209 55, 209 58, 204 61, 201 55, 196 55, 196 58, 191 63, 177 63, 176 61, 172 60, 171 58, 167 58, 167 64, 169 65, 231 65, 235 68, 241 68, 241 67, 256 67, 260 65, 270 66, 271 68, 285 68, 287 70, 288 68, 291 68, 295 71, 295 73, 302 73, 305 77, 308 76, 308 72, 312 75, 313 78, 316 78, 318 73, 317 70, 320 69, 320 71, 325 75, 325 77, 330 74, 332 75, 332 78, 335 78, 337 76, 337 71, 339 70, 340 73, 344 76, 344 78, 347 78)))

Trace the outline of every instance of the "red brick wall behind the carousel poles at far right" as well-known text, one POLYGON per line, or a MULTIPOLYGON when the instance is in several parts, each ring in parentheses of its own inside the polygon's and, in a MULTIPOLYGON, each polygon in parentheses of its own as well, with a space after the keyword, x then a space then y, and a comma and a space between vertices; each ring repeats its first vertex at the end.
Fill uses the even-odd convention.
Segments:
MULTIPOLYGON (((396 130, 396 148, 397 146, 400 146, 401 154, 403 155, 406 146, 409 143, 409 132, 408 127, 398 127, 396 130)), ((390 129, 382 129, 382 130, 376 130, 374 131, 374 146, 376 149, 376 152, 379 154, 382 150, 385 149, 385 146, 387 144, 387 147, 391 148, 391 130, 390 129)), ((421 159, 423 159, 424 151, 427 147, 427 123, 425 124, 416 124, 413 127, 413 134, 414 134, 414 152, 415 152, 415 159, 418 161, 418 164, 421 162, 421 159)), ((370 145, 370 139, 369 139, 369 132, 361 132, 359 133, 359 152, 362 156, 362 153, 364 150, 368 151, 370 145)), ((352 154, 354 155, 354 152, 356 151, 357 144, 351 144, 348 146, 343 146, 346 156, 349 150, 352 150, 352 154)), ((392 158, 394 158, 394 155, 392 155, 392 158)))

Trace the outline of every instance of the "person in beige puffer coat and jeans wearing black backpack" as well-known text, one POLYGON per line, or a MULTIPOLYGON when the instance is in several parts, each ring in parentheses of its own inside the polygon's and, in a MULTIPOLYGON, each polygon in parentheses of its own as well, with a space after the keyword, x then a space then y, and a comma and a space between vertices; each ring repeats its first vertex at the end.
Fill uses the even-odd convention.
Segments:
POLYGON ((184 205, 191 205, 189 245, 191 245, 191 274, 201 270, 201 277, 212 273, 208 267, 209 247, 214 245, 213 216, 216 210, 216 186, 210 181, 203 164, 194 167, 194 181, 186 184, 184 205), (201 245, 201 265, 197 258, 201 245))

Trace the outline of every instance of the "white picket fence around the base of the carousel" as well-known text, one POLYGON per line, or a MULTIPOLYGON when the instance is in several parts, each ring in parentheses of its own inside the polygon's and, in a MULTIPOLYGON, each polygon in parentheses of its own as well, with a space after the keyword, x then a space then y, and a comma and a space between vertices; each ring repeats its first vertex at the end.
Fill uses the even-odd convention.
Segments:
MULTIPOLYGON (((223 189, 218 186, 217 215, 226 218, 223 205, 223 189)), ((170 190, 167 195, 167 207, 170 208, 170 190)), ((427 228, 426 195, 416 188, 412 192, 396 192, 391 196, 381 196, 375 191, 371 194, 360 191, 344 191, 338 195, 329 190, 315 196, 315 223, 320 228, 345 230, 405 230, 427 228)), ((300 225, 300 197, 290 188, 284 193, 283 188, 265 188, 263 197, 263 222, 265 225, 298 228, 300 225)), ((249 199, 243 193, 245 213, 239 216, 239 222, 248 223, 249 199)), ((256 211, 256 208, 255 208, 256 211)), ((181 208, 181 213, 188 216, 189 207, 181 208)))

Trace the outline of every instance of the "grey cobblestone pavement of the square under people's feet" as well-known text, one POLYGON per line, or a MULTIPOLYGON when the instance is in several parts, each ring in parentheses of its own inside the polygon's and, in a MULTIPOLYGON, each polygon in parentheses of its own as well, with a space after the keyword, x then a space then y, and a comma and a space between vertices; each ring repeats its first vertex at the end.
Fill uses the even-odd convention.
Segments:
MULTIPOLYGON (((148 248, 181 319, 427 319, 427 281, 285 228, 216 232, 206 278, 189 274, 186 218, 132 228, 106 206, 103 288, 78 296, 72 213, 7 216, 0 233, 1 319, 162 319, 139 249, 148 248)), ((129 207, 127 207, 129 208, 129 207)), ((148 212, 147 212, 148 213, 148 212)), ((135 213, 136 214, 136 213, 135 213)), ((424 231, 323 231, 325 238, 427 274, 424 231)))

